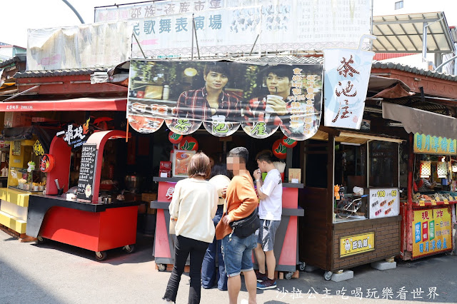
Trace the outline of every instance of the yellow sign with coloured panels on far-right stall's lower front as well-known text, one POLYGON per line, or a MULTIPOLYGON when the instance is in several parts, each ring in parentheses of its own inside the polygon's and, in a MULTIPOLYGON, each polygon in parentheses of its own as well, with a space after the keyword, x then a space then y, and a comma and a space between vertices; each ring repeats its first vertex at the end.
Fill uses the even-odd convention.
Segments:
POLYGON ((451 207, 413 211, 413 258, 452 249, 451 207))

